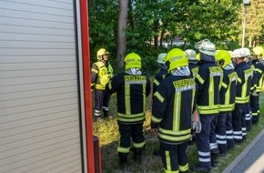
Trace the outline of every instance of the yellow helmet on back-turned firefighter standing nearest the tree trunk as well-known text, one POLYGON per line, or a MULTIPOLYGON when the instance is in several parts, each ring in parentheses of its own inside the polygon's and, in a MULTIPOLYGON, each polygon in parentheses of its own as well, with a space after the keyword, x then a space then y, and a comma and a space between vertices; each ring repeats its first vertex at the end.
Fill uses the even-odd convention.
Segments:
POLYGON ((141 57, 136 53, 128 54, 124 59, 125 69, 141 68, 141 57))

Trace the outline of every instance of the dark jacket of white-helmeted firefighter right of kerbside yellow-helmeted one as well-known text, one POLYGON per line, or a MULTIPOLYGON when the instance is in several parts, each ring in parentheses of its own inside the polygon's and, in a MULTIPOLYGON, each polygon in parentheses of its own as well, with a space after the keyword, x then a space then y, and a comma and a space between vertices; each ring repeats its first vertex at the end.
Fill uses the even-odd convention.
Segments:
POLYGON ((246 62, 242 62, 235 67, 238 73, 236 105, 243 107, 249 103, 249 94, 251 88, 251 80, 253 76, 252 68, 246 62))

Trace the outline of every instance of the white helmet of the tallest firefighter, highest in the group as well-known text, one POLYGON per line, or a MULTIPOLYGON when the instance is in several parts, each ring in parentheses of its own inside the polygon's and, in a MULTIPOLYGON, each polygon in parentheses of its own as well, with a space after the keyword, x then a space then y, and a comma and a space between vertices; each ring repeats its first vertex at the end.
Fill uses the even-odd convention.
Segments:
POLYGON ((208 39, 201 40, 195 44, 195 48, 198 49, 201 53, 208 56, 215 56, 216 46, 208 39))

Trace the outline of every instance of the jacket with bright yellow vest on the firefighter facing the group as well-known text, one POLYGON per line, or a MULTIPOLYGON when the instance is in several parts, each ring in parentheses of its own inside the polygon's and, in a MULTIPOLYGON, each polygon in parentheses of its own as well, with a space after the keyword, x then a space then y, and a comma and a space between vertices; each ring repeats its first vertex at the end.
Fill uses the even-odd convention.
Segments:
POLYGON ((110 78, 113 77, 113 68, 107 62, 97 61, 93 64, 91 70, 91 84, 92 88, 105 90, 110 78))

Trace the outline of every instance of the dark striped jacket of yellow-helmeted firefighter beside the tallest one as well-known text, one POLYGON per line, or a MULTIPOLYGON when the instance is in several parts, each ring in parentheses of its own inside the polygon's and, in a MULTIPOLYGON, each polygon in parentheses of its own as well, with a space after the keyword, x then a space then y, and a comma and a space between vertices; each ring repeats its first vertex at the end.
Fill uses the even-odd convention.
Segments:
POLYGON ((235 108, 238 74, 233 69, 223 70, 224 77, 220 89, 220 113, 230 113, 235 108))

